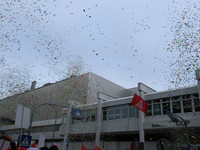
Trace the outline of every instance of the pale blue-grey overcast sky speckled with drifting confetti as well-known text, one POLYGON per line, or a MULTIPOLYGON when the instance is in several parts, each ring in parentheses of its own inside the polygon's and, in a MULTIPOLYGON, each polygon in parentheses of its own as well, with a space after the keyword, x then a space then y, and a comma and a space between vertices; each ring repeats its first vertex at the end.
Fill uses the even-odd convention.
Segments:
POLYGON ((2 0, 1 69, 28 68, 41 86, 80 57, 85 73, 125 88, 194 85, 199 52, 188 51, 199 48, 199 8, 198 0, 2 0))

